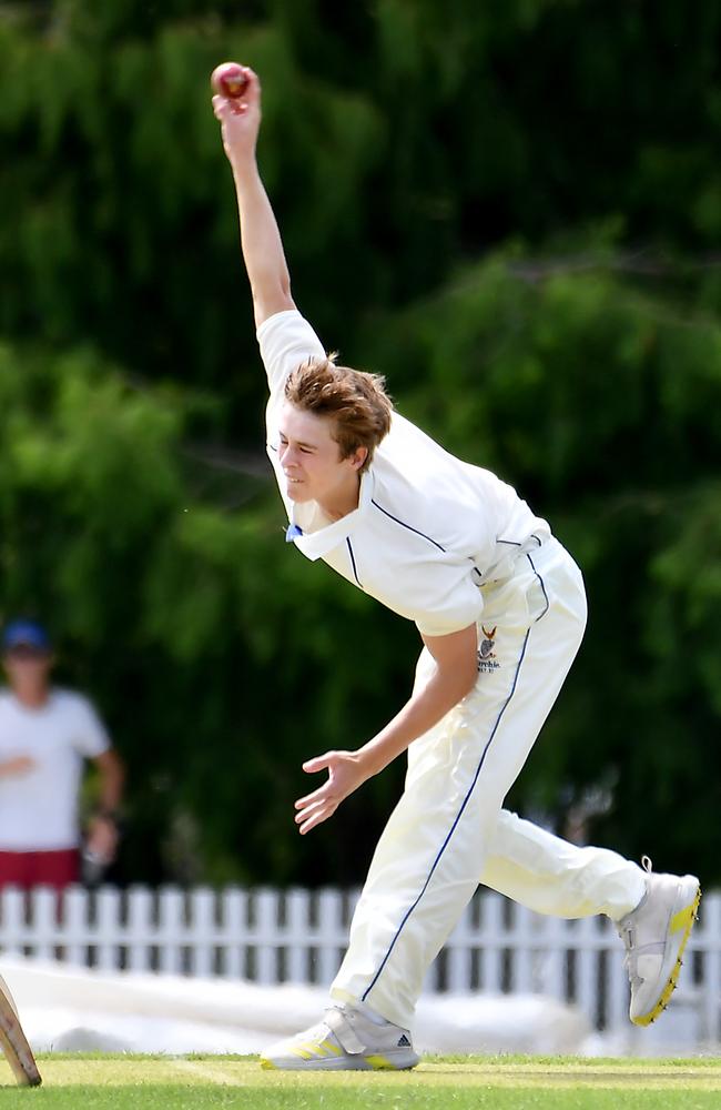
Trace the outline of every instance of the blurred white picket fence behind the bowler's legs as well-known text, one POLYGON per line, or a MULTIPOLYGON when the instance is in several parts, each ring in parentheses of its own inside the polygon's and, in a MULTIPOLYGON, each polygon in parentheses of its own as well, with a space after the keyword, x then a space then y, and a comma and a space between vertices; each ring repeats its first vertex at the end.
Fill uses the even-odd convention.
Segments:
MULTIPOLYGON (((0 894, 0 950, 104 970, 327 985, 347 944, 357 891, 70 888, 0 894)), ((721 1040, 721 895, 707 895, 674 1008, 698 1042, 721 1040)), ((610 921, 542 917, 479 892, 430 969, 427 991, 542 993, 593 1027, 628 1029, 628 980, 610 921)))

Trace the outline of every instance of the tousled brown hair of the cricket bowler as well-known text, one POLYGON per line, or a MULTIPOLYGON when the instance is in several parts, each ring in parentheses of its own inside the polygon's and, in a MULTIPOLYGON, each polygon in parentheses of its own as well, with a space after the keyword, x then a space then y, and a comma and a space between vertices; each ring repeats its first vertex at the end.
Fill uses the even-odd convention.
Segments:
POLYGON ((285 400, 303 412, 328 416, 335 424, 333 438, 347 458, 358 447, 367 447, 365 471, 373 452, 390 430, 393 402, 380 374, 367 374, 349 366, 336 366, 336 355, 308 359, 285 383, 285 400))

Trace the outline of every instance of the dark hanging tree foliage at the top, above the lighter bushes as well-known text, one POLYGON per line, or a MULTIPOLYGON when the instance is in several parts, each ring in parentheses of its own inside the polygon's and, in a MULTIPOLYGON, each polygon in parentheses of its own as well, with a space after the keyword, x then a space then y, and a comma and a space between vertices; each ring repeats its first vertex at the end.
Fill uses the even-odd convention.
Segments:
POLYGON ((678 0, 0 11, 0 208, 18 215, 0 327, 60 343, 92 327, 124 364, 222 391, 243 434, 255 353, 207 103, 219 58, 263 74, 297 295, 338 343, 509 235, 612 216, 633 248, 718 243, 718 4, 692 20, 678 0))

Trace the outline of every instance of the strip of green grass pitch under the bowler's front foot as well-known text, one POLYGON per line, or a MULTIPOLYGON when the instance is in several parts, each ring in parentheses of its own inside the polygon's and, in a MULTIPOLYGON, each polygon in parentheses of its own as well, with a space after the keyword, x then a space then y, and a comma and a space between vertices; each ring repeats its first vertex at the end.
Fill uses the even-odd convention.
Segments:
POLYGON ((426 1057, 412 1072, 273 1072, 230 1056, 47 1054, 43 1086, 14 1086, 0 1062, 0 1108, 14 1110, 711 1110, 721 1060, 426 1057))

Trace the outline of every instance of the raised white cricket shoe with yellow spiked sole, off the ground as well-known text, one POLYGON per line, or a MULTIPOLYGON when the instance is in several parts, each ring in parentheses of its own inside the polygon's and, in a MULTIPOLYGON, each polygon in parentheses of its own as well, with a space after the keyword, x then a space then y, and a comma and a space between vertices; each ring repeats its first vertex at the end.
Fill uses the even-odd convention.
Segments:
POLYGON ((631 980, 629 1017, 637 1026, 649 1026, 673 993, 701 887, 695 875, 653 875, 648 856, 641 862, 648 871, 646 894, 617 928, 631 980))

